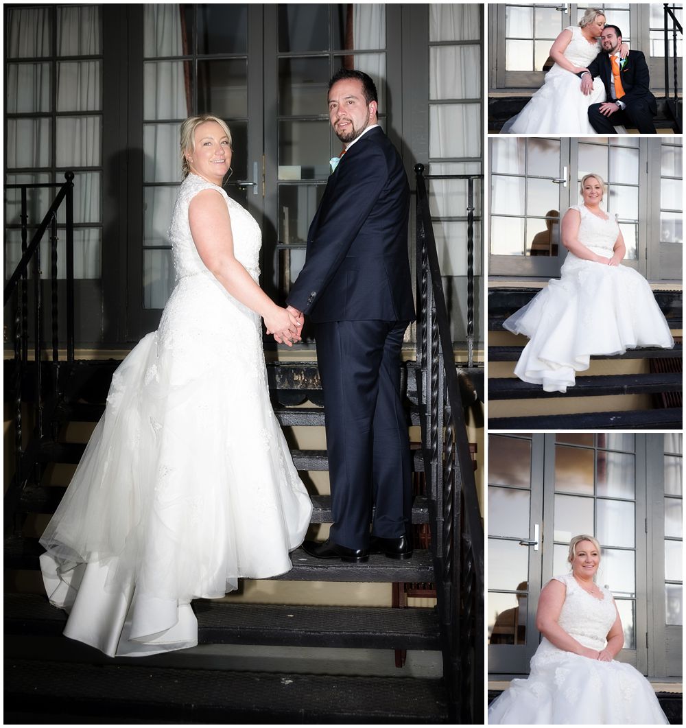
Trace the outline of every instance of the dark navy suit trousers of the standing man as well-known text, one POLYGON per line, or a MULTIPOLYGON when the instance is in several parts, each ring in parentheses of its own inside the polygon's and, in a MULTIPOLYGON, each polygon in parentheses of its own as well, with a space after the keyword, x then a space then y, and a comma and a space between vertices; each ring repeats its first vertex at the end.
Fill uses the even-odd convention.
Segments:
POLYGON ((376 320, 314 325, 331 482, 330 538, 340 546, 367 548, 372 504, 373 535, 410 532, 410 438, 400 398, 407 325, 376 320))

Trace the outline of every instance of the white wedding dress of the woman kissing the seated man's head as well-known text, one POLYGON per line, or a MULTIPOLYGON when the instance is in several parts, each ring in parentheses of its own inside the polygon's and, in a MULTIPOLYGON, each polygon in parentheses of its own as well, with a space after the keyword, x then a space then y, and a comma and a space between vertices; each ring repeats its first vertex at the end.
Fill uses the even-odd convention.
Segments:
MULTIPOLYGON (((601 52, 600 41, 589 43, 578 25, 565 28, 572 39, 563 55, 579 68, 586 68, 601 52)), ((589 122, 589 106, 605 101, 605 86, 593 79, 593 90, 585 96, 581 79, 557 63, 546 73, 543 86, 522 111, 503 124, 501 134, 595 134, 589 122)))

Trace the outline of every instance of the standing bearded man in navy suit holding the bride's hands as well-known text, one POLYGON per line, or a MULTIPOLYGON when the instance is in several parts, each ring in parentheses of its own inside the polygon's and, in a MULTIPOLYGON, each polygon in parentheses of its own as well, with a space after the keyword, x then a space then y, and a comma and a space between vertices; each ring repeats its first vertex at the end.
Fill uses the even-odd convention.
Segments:
POLYGON ((402 160, 377 119, 376 87, 341 68, 329 83, 329 118, 345 145, 307 238, 287 298, 314 325, 324 390, 332 526, 316 558, 410 558, 410 443, 400 398, 400 351, 415 318, 402 160), (370 541, 372 505, 375 514, 370 541))

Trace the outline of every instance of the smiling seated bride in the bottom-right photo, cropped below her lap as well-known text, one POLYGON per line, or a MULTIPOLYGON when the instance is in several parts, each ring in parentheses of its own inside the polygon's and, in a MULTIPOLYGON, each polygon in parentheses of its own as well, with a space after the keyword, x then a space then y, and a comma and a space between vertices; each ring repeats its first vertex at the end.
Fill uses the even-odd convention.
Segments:
POLYGON ((615 657, 624 631, 610 590, 595 583, 600 545, 586 534, 570 542, 571 573, 551 579, 538 599, 543 634, 525 680, 488 708, 498 724, 666 724, 650 683, 615 657))

